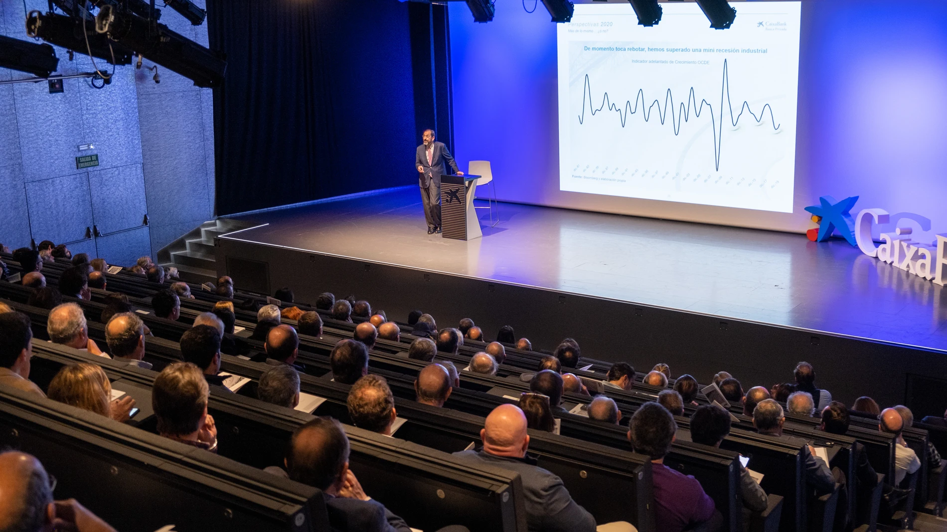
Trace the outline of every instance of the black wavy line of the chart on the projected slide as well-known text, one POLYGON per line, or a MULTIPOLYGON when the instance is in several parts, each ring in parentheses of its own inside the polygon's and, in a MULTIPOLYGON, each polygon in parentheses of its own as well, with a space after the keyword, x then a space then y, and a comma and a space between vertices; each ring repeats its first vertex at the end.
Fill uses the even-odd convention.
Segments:
POLYGON ((644 117, 645 122, 651 121, 652 110, 654 106, 657 106, 658 119, 663 126, 668 119, 668 111, 670 110, 670 122, 671 127, 674 131, 674 136, 680 134, 681 125, 684 122, 689 122, 690 113, 693 112, 694 118, 699 118, 701 112, 704 111, 704 106, 707 106, 707 109, 710 112, 710 121, 711 127, 713 129, 713 143, 714 143, 714 166, 716 171, 720 171, 720 161, 721 161, 721 152, 723 146, 723 134, 724 134, 724 98, 726 99, 727 109, 730 112, 730 121, 731 125, 736 128, 740 123, 740 118, 743 115, 743 112, 748 112, 753 119, 759 124, 762 122, 765 117, 767 110, 770 113, 770 124, 773 126, 773 130, 777 131, 780 124, 777 124, 776 118, 773 114, 773 108, 770 104, 766 103, 759 109, 759 115, 750 108, 750 104, 747 100, 743 100, 743 103, 740 107, 740 112, 734 118, 733 113, 733 102, 730 96, 730 77, 727 71, 727 60, 724 59, 724 69, 721 76, 721 92, 720 92, 720 116, 719 118, 714 114, 713 105, 708 102, 705 98, 701 98, 700 103, 697 103, 697 95, 693 87, 690 87, 688 92, 687 102, 681 102, 677 107, 677 112, 675 114, 675 105, 674 105, 674 95, 670 88, 665 94, 664 107, 662 108, 661 102, 658 99, 654 99, 647 108, 646 98, 644 94, 644 89, 638 89, 637 94, 634 96, 634 107, 632 106, 632 100, 626 100, 623 106, 618 106, 612 103, 608 93, 602 95, 601 105, 598 109, 595 109, 595 104, 592 101, 592 85, 589 80, 589 75, 585 75, 585 80, 582 86, 582 111, 579 114, 579 124, 582 125, 585 123, 585 110, 586 103, 588 103, 588 111, 592 116, 595 116, 599 112, 611 111, 616 112, 618 119, 621 123, 621 127, 625 128, 628 123, 628 117, 632 114, 638 112, 638 104, 641 105, 641 114, 644 117), (693 106, 693 107, 691 107, 693 106))

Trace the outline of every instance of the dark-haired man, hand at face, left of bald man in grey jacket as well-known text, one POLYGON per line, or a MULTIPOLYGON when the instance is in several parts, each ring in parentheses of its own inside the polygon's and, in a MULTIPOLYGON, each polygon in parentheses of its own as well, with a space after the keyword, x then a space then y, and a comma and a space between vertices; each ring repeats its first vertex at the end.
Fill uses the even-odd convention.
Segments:
POLYGON ((280 476, 321 489, 332 530, 341 532, 411 532, 402 518, 367 496, 348 470, 348 437, 330 417, 300 426, 290 439, 286 469, 267 468, 280 476))

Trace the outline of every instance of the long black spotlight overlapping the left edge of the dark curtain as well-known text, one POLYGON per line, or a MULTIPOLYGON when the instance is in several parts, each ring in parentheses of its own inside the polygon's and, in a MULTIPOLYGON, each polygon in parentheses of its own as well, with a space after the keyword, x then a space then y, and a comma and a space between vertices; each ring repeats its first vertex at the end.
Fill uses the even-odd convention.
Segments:
POLYGON ((134 13, 103 6, 96 15, 96 31, 161 66, 188 77, 198 87, 223 83, 226 62, 204 46, 134 13))

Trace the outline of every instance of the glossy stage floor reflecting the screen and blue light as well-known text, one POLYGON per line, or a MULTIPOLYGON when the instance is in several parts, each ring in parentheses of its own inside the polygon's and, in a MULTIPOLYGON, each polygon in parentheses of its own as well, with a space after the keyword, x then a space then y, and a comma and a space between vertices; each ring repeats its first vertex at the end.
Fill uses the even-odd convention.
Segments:
MULTIPOLYGON (((479 202, 478 202, 479 204, 479 202)), ((843 240, 500 203, 464 242, 417 187, 250 215, 228 238, 947 350, 947 291, 843 240)), ((594 317, 590 317, 594 319, 594 317)))

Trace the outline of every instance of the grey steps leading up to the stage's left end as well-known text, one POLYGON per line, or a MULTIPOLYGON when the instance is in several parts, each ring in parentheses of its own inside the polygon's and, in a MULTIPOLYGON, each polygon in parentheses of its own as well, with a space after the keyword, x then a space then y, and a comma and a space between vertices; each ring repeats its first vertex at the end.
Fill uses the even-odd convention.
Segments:
POLYGON ((251 227, 239 220, 215 219, 185 233, 158 251, 157 262, 165 269, 178 268, 181 280, 188 283, 217 283, 214 237, 251 227))

